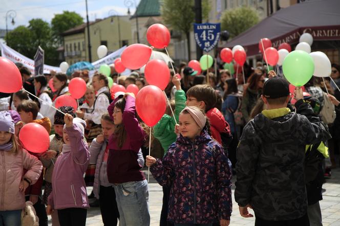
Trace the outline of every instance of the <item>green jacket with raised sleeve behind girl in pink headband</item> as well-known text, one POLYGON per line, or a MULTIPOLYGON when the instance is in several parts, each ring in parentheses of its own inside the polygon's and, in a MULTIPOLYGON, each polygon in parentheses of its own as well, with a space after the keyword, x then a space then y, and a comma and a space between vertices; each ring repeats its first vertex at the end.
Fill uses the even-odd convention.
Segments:
MULTIPOLYGON (((185 93, 182 90, 178 90, 175 93, 175 118, 178 122, 179 114, 185 107, 185 93)), ((159 140, 163 149, 164 155, 167 152, 168 147, 176 141, 177 135, 175 133, 176 122, 174 117, 164 114, 161 120, 154 126, 153 133, 156 139, 159 140)))

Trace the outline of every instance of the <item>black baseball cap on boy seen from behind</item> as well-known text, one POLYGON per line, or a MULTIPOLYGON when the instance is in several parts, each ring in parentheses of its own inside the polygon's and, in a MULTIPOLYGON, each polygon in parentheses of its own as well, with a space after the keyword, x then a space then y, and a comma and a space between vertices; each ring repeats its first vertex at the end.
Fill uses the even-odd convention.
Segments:
POLYGON ((268 99, 275 99, 289 96, 289 83, 280 77, 272 77, 263 85, 263 96, 268 99))

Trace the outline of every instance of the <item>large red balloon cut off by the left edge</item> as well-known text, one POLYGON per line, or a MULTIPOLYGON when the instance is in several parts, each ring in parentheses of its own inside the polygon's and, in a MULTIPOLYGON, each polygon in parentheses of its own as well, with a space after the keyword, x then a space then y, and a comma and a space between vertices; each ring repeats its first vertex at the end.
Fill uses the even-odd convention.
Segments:
POLYGON ((23 78, 17 66, 5 57, 0 57, 0 92, 16 93, 23 87, 23 78))

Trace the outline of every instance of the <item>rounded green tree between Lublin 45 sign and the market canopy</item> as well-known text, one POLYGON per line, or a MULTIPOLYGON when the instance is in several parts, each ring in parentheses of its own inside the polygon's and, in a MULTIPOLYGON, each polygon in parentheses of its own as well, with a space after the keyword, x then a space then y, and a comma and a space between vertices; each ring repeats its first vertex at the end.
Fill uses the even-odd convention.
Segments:
POLYGON ((241 7, 224 11, 221 17, 221 29, 236 37, 259 22, 258 12, 250 7, 241 7))

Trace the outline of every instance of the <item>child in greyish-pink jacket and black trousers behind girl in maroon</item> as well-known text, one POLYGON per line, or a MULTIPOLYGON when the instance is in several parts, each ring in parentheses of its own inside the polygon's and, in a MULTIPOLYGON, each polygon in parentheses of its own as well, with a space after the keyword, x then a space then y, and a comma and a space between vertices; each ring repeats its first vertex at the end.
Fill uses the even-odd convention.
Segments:
MULTIPOLYGON (((104 225, 117 225, 119 211, 117 207, 114 185, 109 182, 107 161, 109 156, 108 141, 115 131, 115 124, 109 114, 101 117, 102 134, 95 138, 90 146, 90 164, 96 164, 93 192, 99 198, 100 213, 104 225)), ((138 163, 144 165, 141 150, 138 152, 138 163)))

